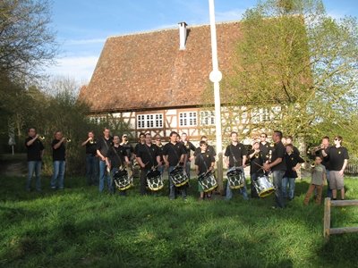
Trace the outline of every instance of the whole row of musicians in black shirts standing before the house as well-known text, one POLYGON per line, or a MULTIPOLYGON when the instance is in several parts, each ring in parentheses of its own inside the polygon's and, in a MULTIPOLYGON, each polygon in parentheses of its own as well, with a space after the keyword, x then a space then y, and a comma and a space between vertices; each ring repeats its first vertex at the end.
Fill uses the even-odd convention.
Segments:
MULTIPOLYGON (((36 176, 36 189, 41 190, 40 170, 44 146, 41 138, 38 137, 36 130, 29 130, 29 137, 25 140, 28 149, 28 180, 27 189, 30 191, 31 178, 33 173, 36 176)), ((166 169, 169 181, 169 198, 181 194, 184 199, 187 196, 188 184, 176 187, 171 179, 170 173, 175 168, 182 167, 190 179, 192 162, 195 165, 195 172, 198 176, 209 172, 214 172, 216 163, 216 152, 214 147, 208 144, 208 138, 200 138, 200 146, 194 147, 188 140, 186 133, 181 136, 175 131, 169 135, 169 142, 162 144, 162 138, 156 135, 153 142, 150 133, 141 133, 140 140, 135 147, 128 142, 128 135, 121 137, 118 135, 110 136, 110 130, 105 128, 103 136, 95 138, 92 131, 88 132, 88 138, 82 142, 86 147, 86 178, 89 185, 97 185, 99 192, 105 188, 110 193, 115 193, 114 175, 121 169, 133 172, 134 164, 140 168, 140 193, 149 194, 147 188, 147 174, 150 171, 158 170, 161 174, 166 169)), ((267 141, 267 134, 261 133, 260 140, 253 140, 250 150, 239 142, 237 132, 231 132, 231 142, 224 152, 224 163, 228 171, 232 169, 244 169, 250 165, 251 177, 251 198, 259 197, 255 181, 262 176, 272 175, 273 187, 275 188, 276 207, 284 208, 286 200, 294 198, 294 181, 299 176, 303 158, 297 147, 292 144, 292 137, 283 137, 279 130, 272 134, 272 142, 267 141), (285 140, 284 140, 285 139, 285 140), (284 141, 284 142, 283 142, 284 141)), ((304 198, 307 205, 313 192, 315 192, 316 203, 320 204, 324 181, 328 181, 328 197, 337 198, 337 190, 340 191, 341 198, 345 198, 344 171, 348 161, 348 152, 342 147, 343 138, 337 136, 334 146, 330 146, 329 138, 322 138, 321 145, 312 149, 314 163, 311 164, 311 185, 304 198)), ((65 169, 65 143, 68 142, 63 137, 61 131, 55 132, 55 138, 51 143, 53 152, 54 173, 51 178, 51 188, 64 188, 64 169, 65 169)), ((211 198, 211 192, 204 192, 202 186, 198 185, 200 199, 211 198)), ((245 182, 238 191, 243 195, 243 199, 248 200, 249 195, 245 182)), ((125 195, 125 190, 120 191, 125 195)), ((226 186, 226 200, 233 197, 234 189, 229 183, 226 186)))

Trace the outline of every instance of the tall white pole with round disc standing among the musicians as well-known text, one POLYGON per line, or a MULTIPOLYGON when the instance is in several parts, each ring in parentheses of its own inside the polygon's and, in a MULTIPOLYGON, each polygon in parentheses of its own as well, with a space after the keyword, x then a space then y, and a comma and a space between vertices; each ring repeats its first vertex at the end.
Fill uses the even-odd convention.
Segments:
POLYGON ((221 105, 220 105, 220 86, 219 81, 222 79, 221 71, 218 71, 217 62, 217 29, 215 25, 214 0, 209 0, 209 17, 211 32, 211 54, 213 70, 209 74, 209 79, 214 84, 214 100, 215 100, 215 125, 217 138, 217 184, 218 190, 223 194, 223 147, 221 136, 221 105))

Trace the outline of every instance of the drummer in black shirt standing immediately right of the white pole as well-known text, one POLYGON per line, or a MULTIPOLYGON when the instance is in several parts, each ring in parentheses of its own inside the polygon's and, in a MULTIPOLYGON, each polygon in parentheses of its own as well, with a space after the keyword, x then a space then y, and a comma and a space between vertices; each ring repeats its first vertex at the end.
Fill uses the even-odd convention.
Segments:
MULTIPOLYGON (((239 142, 239 138, 237 132, 233 131, 230 134, 231 144, 226 147, 225 151, 225 163, 228 169, 232 167, 242 167, 243 169, 246 167, 246 159, 247 159, 247 149, 246 147, 239 142)), ((243 195, 244 200, 248 200, 246 190, 246 182, 244 181, 244 185, 240 188, 240 193, 243 195)), ((226 200, 230 200, 233 197, 233 190, 230 188, 230 184, 227 181, 226 185, 226 200)))

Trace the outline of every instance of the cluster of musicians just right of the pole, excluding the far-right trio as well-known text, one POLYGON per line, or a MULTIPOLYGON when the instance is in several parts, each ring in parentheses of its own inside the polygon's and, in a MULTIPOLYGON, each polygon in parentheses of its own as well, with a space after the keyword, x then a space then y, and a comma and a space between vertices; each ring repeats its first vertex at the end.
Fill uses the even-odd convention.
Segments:
MULTIPOLYGON (((275 188, 275 200, 277 207, 285 207, 285 199, 294 198, 294 181, 298 177, 297 172, 304 163, 297 147, 292 144, 293 138, 286 137, 285 144, 282 142, 281 131, 274 131, 272 143, 267 141, 267 134, 261 133, 260 140, 252 142, 252 148, 247 148, 238 141, 238 134, 231 132, 231 144, 226 147, 225 163, 229 169, 234 167, 245 168, 250 164, 251 198, 258 198, 259 193, 255 187, 255 181, 272 174, 273 187, 275 188), (287 192, 288 187, 288 192, 287 192)), ((246 186, 240 188, 243 199, 248 200, 246 186)), ((226 199, 233 196, 229 184, 226 185, 226 199)))

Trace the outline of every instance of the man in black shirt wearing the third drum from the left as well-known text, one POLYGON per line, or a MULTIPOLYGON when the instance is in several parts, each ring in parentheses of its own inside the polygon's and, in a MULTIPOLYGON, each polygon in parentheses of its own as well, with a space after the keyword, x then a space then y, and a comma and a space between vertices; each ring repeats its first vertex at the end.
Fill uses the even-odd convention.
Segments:
MULTIPOLYGON (((183 146, 177 142, 178 133, 175 131, 170 132, 169 138, 170 141, 163 148, 164 161, 166 163, 168 171, 168 180, 169 180, 169 198, 171 200, 175 199, 175 184, 174 181, 170 178, 170 172, 172 172, 176 166, 183 166, 185 150, 183 146)), ((186 199, 186 185, 180 187, 182 191, 182 197, 186 199)))

